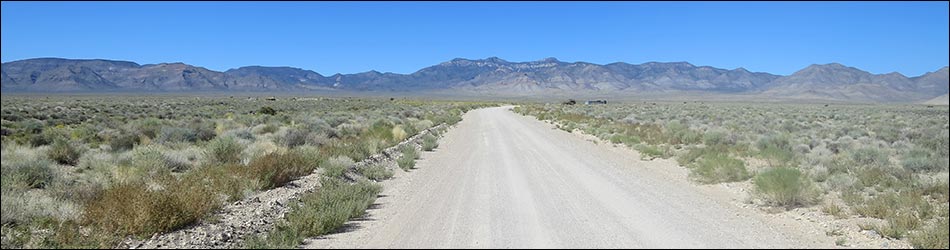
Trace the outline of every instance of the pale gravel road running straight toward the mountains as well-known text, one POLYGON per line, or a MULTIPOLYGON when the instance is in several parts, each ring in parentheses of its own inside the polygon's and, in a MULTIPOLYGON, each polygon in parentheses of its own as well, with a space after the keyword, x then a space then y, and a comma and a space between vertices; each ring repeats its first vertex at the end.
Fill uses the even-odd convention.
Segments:
POLYGON ((466 114, 419 169, 384 182, 366 219, 303 247, 817 247, 635 155, 509 108, 466 114))

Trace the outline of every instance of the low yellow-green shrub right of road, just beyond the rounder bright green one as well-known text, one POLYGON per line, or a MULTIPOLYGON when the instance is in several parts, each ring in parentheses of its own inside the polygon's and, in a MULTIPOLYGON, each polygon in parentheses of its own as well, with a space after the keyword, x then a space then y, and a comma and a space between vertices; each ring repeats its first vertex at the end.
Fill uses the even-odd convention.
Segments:
POLYGON ((745 162, 726 154, 703 156, 691 169, 690 176, 703 184, 744 181, 751 177, 745 162))

